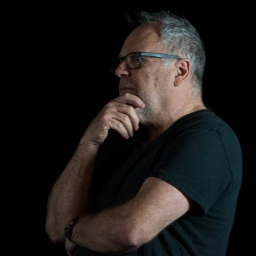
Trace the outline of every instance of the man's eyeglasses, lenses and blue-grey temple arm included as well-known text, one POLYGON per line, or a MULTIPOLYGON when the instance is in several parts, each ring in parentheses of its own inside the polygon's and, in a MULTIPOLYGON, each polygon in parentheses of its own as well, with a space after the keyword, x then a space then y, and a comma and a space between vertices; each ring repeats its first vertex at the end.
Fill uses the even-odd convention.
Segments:
POLYGON ((180 60, 180 57, 173 56, 164 53, 146 53, 146 52, 136 52, 128 53, 126 56, 119 57, 117 60, 114 60, 111 65, 111 71, 114 72, 117 69, 117 66, 124 60, 128 69, 138 69, 142 65, 142 56, 153 57, 153 58, 173 58, 180 60))

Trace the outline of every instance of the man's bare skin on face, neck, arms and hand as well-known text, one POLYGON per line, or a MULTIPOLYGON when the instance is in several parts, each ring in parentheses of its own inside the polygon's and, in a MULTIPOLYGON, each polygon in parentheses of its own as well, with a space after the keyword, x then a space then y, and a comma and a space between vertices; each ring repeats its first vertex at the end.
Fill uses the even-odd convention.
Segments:
MULTIPOLYGON (((134 51, 167 53, 157 25, 144 24, 128 35, 119 56, 134 51)), ((147 178, 135 198, 123 205, 92 214, 89 184, 94 160, 110 130, 124 139, 133 136, 139 122, 152 141, 185 114, 204 109, 191 86, 189 60, 164 65, 160 58, 144 57, 142 67, 130 70, 121 62, 115 74, 119 96, 112 99, 90 123, 76 152, 53 185, 46 216, 46 232, 53 242, 65 242, 72 255, 76 244, 101 253, 123 253, 142 246, 185 214, 193 202, 159 178, 147 178), (72 231, 71 243, 63 234, 67 223, 82 215, 72 231)))

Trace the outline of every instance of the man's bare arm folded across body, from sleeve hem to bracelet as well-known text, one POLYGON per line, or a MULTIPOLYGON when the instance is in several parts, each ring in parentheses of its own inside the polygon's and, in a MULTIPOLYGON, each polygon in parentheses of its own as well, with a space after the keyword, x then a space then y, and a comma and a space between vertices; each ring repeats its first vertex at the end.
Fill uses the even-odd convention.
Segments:
POLYGON ((153 239, 191 205, 176 187, 159 178, 147 178, 137 196, 123 205, 81 216, 72 239, 100 253, 126 252, 153 239))

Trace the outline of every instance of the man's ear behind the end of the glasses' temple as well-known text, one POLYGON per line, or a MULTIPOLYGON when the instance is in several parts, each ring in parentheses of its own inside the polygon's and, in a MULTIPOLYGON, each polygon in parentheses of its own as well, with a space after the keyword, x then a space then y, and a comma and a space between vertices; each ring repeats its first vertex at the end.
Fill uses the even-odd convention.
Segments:
POLYGON ((191 70, 191 65, 188 59, 181 59, 176 62, 176 76, 174 80, 174 85, 179 86, 189 78, 191 70))

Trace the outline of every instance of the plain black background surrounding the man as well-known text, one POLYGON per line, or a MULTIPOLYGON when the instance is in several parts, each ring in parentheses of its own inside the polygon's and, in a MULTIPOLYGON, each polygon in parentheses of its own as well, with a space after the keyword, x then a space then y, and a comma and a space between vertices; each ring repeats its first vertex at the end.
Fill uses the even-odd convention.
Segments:
POLYGON ((47 196, 89 121, 117 96, 118 80, 110 73, 109 62, 128 33, 125 15, 162 8, 187 17, 198 29, 207 52, 205 104, 232 126, 241 141, 244 180, 227 255, 251 255, 253 2, 187 0, 9 1, 1 8, 4 255, 66 255, 44 231, 47 196))

